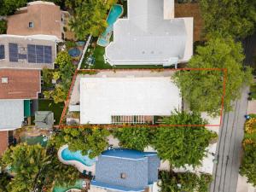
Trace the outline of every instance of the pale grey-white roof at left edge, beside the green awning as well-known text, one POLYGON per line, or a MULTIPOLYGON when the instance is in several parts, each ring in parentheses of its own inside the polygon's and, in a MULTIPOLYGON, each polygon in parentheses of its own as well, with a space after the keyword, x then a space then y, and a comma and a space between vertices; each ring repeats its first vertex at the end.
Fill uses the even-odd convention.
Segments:
POLYGON ((15 130, 24 120, 24 100, 0 100, 0 131, 15 130))

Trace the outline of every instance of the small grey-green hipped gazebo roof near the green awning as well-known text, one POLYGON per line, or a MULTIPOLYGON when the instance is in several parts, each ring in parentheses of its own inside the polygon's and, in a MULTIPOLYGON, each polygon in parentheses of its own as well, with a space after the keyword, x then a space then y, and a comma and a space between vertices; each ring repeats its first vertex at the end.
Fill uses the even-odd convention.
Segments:
POLYGON ((37 128, 50 129, 55 123, 54 113, 51 111, 36 111, 34 123, 37 128))

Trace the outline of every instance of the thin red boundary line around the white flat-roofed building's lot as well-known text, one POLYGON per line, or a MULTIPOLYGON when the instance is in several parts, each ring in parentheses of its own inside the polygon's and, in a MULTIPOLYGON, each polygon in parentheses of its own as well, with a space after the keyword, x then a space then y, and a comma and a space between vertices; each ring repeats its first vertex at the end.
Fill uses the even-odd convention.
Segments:
POLYGON ((129 127, 145 127, 145 126, 149 126, 149 127, 163 127, 163 126, 220 126, 222 124, 222 116, 223 116, 223 112, 224 112, 224 96, 225 96, 225 89, 226 89, 226 79, 227 79, 227 69, 226 68, 156 68, 156 69, 150 69, 150 68, 141 68, 141 69, 77 69, 73 75, 73 79, 72 79, 72 83, 70 86, 70 89, 68 90, 68 94, 67 94, 67 100, 65 102, 65 107, 63 108, 63 111, 61 113, 61 119, 60 119, 60 123, 59 123, 59 128, 83 128, 84 125, 65 125, 62 124, 62 121, 64 119, 64 116, 67 112, 67 106, 69 105, 70 102, 70 96, 71 96, 71 92, 73 90, 73 85, 75 83, 76 77, 78 75, 79 72, 104 72, 104 71, 151 71, 151 72, 160 72, 160 71, 222 71, 224 72, 224 80, 223 80, 223 94, 222 94, 222 98, 221 98, 221 109, 220 109, 220 120, 219 120, 219 124, 218 125, 112 125, 112 124, 108 124, 108 125, 95 125, 95 124, 91 124, 91 125, 86 125, 86 127, 95 127, 95 126, 99 126, 101 128, 120 128, 120 127, 125 127, 125 126, 129 126, 129 127))

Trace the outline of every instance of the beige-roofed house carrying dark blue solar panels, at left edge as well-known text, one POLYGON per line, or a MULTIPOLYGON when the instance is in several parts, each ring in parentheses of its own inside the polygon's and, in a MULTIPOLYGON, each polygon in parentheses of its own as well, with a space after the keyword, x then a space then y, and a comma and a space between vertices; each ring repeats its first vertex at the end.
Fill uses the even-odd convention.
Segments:
POLYGON ((53 36, 0 35, 0 68, 54 68, 53 36))

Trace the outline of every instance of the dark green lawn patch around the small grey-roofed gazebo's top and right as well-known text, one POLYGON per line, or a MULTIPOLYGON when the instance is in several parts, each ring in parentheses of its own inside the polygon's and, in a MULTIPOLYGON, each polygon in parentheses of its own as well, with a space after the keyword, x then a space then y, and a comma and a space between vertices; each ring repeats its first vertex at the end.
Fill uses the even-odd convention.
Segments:
POLYGON ((55 116, 55 125, 58 125, 61 119, 61 113, 64 108, 64 102, 55 103, 53 100, 38 100, 39 111, 52 111, 55 116))

